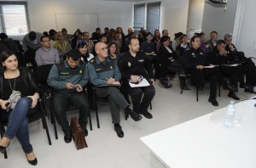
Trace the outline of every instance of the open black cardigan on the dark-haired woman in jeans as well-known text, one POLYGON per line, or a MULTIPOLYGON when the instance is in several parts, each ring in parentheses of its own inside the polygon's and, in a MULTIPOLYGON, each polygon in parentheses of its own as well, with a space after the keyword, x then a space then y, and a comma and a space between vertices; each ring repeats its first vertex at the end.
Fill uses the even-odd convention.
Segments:
MULTIPOLYGON (((19 68, 20 78, 25 84, 24 87, 29 91, 29 94, 26 96, 31 96, 35 92, 40 93, 40 87, 38 82, 35 81, 35 77, 32 74, 32 71, 26 68, 19 68)), ((3 98, 3 71, 0 73, 0 97, 3 98)))

